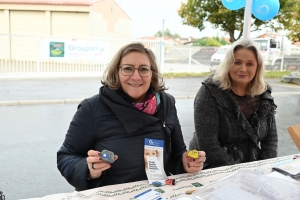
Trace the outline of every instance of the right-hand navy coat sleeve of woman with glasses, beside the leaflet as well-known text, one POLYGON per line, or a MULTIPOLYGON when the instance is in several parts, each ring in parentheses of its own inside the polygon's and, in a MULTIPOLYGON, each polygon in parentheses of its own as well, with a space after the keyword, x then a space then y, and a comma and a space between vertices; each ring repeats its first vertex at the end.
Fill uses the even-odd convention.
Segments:
POLYGON ((177 116, 177 109, 175 106, 175 99, 169 95, 171 101, 169 101, 170 111, 166 116, 166 128, 165 134, 171 138, 171 158, 165 166, 167 175, 185 173, 182 163, 182 154, 186 152, 186 145, 184 143, 181 125, 177 116), (169 124, 173 124, 172 128, 169 128, 169 124))

